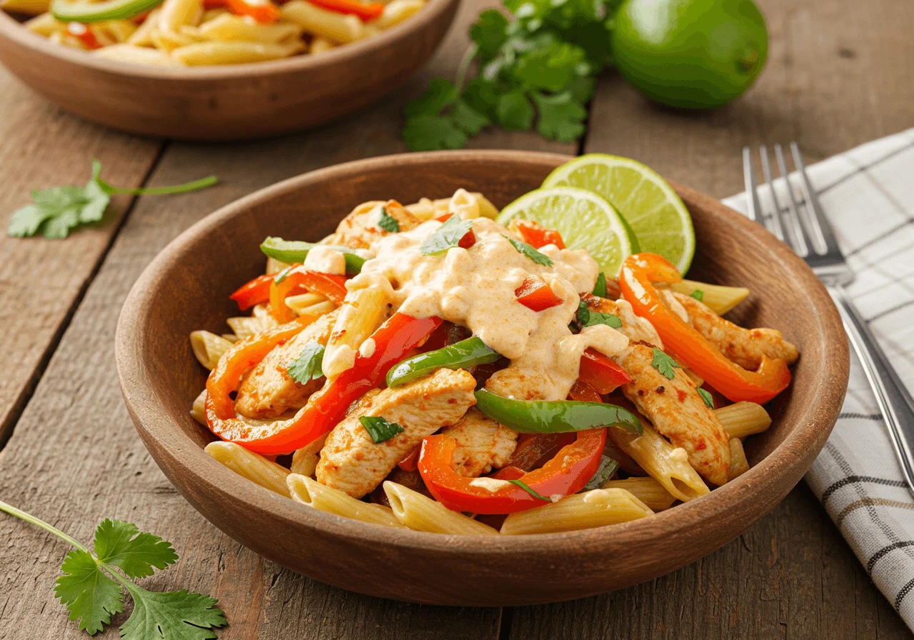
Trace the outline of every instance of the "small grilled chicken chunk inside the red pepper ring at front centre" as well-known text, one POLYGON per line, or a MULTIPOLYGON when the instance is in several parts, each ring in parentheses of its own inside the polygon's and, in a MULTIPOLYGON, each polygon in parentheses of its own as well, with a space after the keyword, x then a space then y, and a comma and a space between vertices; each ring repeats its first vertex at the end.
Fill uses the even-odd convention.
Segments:
POLYGON ((475 478, 498 469, 511 458, 517 446, 517 432, 470 409, 457 424, 441 433, 457 441, 454 468, 460 475, 475 478))

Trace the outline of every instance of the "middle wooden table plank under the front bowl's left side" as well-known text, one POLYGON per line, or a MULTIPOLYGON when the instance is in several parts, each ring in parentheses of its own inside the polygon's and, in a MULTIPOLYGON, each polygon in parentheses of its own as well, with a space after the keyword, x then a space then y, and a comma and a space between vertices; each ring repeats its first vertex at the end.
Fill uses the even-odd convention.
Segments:
MULTIPOLYGON (((90 539, 101 518, 121 517, 172 541, 181 560, 150 584, 218 597, 231 623, 221 638, 498 636, 498 609, 418 606, 343 592, 283 570, 222 535, 177 495, 143 449, 122 405, 111 352, 131 284, 168 240, 197 219, 285 177, 405 151, 399 140, 403 105, 431 77, 453 77, 467 46, 466 28, 491 4, 465 2, 420 77, 374 108, 312 133, 250 144, 174 144, 165 151, 153 184, 201 172, 215 173, 221 182, 184 196, 140 198, 0 453, 0 496, 80 539, 90 539)), ((492 132, 473 144, 576 149, 533 133, 492 132)), ((9 557, 0 577, 0 628, 17 628, 23 637, 77 636, 52 596, 63 546, 8 517, 0 517, 0 538, 8 540, 5 561, 9 557)), ((112 630, 104 635, 115 636, 112 630)))

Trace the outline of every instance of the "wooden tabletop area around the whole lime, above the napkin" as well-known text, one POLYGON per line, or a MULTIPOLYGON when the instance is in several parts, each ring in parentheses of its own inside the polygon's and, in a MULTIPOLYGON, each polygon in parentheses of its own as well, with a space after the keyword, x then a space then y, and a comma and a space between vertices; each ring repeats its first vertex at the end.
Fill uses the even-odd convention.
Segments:
POLYGON ((914 126, 914 4, 758 0, 771 50, 756 84, 710 112, 655 106, 615 72, 590 107, 586 152, 631 156, 690 187, 742 187, 743 145, 800 144, 807 162, 914 126))

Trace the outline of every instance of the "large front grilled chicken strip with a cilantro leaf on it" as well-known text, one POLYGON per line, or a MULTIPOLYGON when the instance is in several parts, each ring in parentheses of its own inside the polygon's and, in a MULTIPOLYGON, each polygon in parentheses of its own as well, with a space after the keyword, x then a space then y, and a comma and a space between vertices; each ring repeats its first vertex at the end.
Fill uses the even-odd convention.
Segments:
POLYGON ((369 392, 327 436, 317 481, 353 497, 365 496, 422 438, 459 421, 476 404, 475 387, 467 371, 440 368, 405 387, 369 392), (358 420, 362 416, 396 422, 403 432, 374 443, 358 420))

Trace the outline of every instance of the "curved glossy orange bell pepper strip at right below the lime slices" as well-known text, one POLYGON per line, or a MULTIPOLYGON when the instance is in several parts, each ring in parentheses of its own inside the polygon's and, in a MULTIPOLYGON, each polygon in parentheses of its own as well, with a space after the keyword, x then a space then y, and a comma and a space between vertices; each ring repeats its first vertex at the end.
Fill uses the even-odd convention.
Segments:
POLYGON ((653 283, 681 280, 675 266, 655 253, 629 256, 622 262, 619 275, 622 295, 635 314, 651 321, 664 348, 729 400, 764 404, 786 389, 791 383, 786 362, 765 357, 757 371, 747 371, 730 362, 705 336, 664 306, 653 283))

